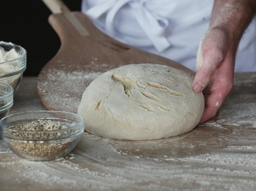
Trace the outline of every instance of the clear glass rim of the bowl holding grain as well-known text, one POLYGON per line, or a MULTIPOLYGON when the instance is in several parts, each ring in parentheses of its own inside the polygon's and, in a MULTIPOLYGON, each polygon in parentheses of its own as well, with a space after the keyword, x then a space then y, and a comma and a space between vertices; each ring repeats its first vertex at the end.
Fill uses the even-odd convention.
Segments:
MULTIPOLYGON (((83 131, 84 131, 84 118, 82 118, 80 115, 78 114, 74 114, 74 113, 70 113, 70 112, 65 112, 65 111, 51 111, 51 110, 40 110, 40 111, 27 111, 27 112, 20 112, 20 113, 16 113, 16 114, 11 114, 11 115, 8 115, 4 118, 2 118, 0 120, 0 127, 1 127, 1 131, 3 131, 3 129, 10 129, 10 130, 14 130, 14 131, 17 131, 17 132, 28 132, 28 133, 51 133, 51 132, 56 132, 56 131, 64 131, 64 130, 67 130, 67 129, 56 129, 56 130, 51 130, 51 131, 24 131, 24 130, 17 130, 17 129, 11 129, 9 128, 8 126, 6 126, 5 124, 3 124, 3 121, 9 117, 13 117, 13 116, 18 116, 18 115, 21 115, 21 114, 29 114, 29 113, 56 113, 56 114, 71 114, 73 116, 76 116, 78 118, 81 119, 81 122, 78 122, 78 124, 76 125, 73 125, 73 126, 70 126, 68 128, 71 128, 71 129, 75 129, 76 127, 79 127, 79 126, 82 126, 83 127, 83 131)), ((29 118, 28 118, 29 119, 29 118)), ((38 119, 44 119, 44 118, 38 118, 38 119)), ((53 118, 45 118, 45 119, 53 119, 53 118)), ((65 118, 63 118, 65 119, 65 118)), ((35 119, 36 120, 36 119, 35 119)), ((2 132, 3 133, 3 132, 2 132)), ((75 133, 76 134, 76 133, 75 133)), ((73 134, 70 134, 69 136, 71 136, 73 134)), ((61 138, 61 137, 58 137, 58 138, 61 138)), ((57 139, 57 138, 53 138, 53 139, 57 139)), ((36 140, 36 139, 35 139, 36 140)), ((38 139, 39 140, 39 139, 38 139)))

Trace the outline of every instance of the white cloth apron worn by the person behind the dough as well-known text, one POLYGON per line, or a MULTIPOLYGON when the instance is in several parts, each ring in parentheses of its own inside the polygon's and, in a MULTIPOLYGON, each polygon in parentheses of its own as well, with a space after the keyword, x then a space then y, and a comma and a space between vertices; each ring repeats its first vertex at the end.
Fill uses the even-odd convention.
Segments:
MULTIPOLYGON (((105 34, 196 70, 213 0, 83 0, 82 12, 105 34)), ((256 71, 256 19, 238 48, 236 72, 256 71)))

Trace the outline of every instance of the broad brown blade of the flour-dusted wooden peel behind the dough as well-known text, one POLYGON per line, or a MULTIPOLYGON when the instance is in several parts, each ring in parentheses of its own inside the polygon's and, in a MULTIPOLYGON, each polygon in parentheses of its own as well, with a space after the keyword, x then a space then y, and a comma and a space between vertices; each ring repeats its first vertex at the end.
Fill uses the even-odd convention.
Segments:
POLYGON ((163 64, 194 74, 174 61, 109 38, 81 12, 51 15, 49 22, 60 37, 61 47, 56 56, 44 66, 38 78, 38 94, 48 110, 77 113, 77 103, 82 93, 97 77, 92 74, 100 75, 126 64, 163 64), (77 21, 71 23, 70 18, 77 21), (79 27, 82 27, 82 32, 79 27), (88 75, 91 77, 86 78, 88 75))

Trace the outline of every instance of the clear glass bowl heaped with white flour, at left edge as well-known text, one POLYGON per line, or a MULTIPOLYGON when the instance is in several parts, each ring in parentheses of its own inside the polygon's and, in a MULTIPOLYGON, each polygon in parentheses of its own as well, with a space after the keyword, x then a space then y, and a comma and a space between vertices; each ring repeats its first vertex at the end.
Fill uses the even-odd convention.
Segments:
POLYGON ((0 82, 18 89, 26 69, 27 52, 19 45, 0 41, 0 82))

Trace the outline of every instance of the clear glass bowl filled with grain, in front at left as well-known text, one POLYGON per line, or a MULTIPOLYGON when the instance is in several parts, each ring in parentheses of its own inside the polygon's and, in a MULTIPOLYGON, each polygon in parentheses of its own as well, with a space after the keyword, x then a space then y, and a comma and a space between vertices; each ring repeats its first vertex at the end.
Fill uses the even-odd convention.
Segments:
POLYGON ((54 160, 66 156, 84 132, 84 119, 60 111, 31 111, 0 120, 6 145, 28 160, 54 160))

